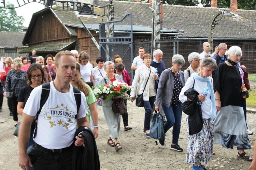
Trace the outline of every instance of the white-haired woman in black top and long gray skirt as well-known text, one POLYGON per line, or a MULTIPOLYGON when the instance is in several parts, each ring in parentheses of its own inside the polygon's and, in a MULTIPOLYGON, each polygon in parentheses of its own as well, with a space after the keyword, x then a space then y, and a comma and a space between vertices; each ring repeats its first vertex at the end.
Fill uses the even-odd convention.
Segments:
POLYGON ((242 78, 237 66, 242 57, 242 50, 238 46, 232 46, 226 52, 226 55, 228 55, 227 61, 218 64, 214 74, 217 108, 214 121, 214 141, 224 148, 233 149, 233 145, 236 145, 237 157, 252 161, 253 158, 244 151, 245 149, 251 149, 251 144, 247 135, 242 107, 242 78))

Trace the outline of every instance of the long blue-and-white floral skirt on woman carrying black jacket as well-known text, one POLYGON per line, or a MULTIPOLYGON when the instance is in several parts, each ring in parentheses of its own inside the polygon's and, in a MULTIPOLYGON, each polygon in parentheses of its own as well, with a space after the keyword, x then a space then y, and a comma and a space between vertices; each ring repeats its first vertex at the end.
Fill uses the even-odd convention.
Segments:
POLYGON ((186 163, 195 164, 203 162, 207 164, 212 160, 214 120, 212 118, 203 119, 202 130, 194 135, 189 135, 187 124, 187 156, 186 163))

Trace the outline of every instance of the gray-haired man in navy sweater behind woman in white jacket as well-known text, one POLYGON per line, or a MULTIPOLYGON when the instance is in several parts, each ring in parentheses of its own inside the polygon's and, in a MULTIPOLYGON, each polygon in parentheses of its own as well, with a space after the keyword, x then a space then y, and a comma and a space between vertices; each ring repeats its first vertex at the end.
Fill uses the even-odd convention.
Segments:
MULTIPOLYGON (((150 66, 157 68, 158 78, 160 79, 161 73, 166 69, 165 62, 162 61, 163 52, 160 49, 156 49, 153 52, 153 56, 154 56, 154 59, 151 61, 150 66)), ((159 81, 155 81, 156 92, 158 88, 158 82, 159 81)), ((152 114, 154 114, 154 111, 155 111, 155 105, 153 106, 152 114)), ((163 121, 166 122, 165 113, 163 112, 162 108, 160 108, 160 114, 163 116, 163 121)))

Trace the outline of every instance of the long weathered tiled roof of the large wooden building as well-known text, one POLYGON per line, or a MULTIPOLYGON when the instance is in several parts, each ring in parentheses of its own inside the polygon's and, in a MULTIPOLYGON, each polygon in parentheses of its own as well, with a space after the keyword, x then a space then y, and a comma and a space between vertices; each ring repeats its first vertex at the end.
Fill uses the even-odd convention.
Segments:
MULTIPOLYGON (((98 6, 107 6, 108 0, 98 0, 98 6)), ((114 20, 121 20, 132 13, 133 25, 152 27, 152 10, 148 3, 113 1, 114 20)), ((59 6, 56 6, 59 8, 59 6)), ((163 4, 163 28, 168 31, 184 30, 186 36, 207 38, 211 17, 220 8, 179 6, 163 4)), ((227 9, 230 11, 229 9, 227 9)), ((82 27, 74 11, 51 10, 63 25, 82 27)), ((43 10, 42 10, 43 12, 43 10)), ((103 9, 96 9, 95 13, 103 15, 103 9)), ((39 12, 40 13, 40 12, 39 12)), ((105 8, 106 13, 106 8, 105 8)), ((239 16, 223 17, 213 30, 214 38, 256 38, 256 11, 238 10, 239 16)), ((106 16, 80 15, 84 24, 95 29, 100 22, 106 22, 106 16)), ((32 18, 33 19, 33 18, 32 18)), ((219 19, 219 18, 218 18, 219 19)), ((128 23, 123 23, 128 24, 128 23)), ((141 30, 143 27, 140 28, 141 30)), ((183 32, 183 31, 181 31, 183 32)))

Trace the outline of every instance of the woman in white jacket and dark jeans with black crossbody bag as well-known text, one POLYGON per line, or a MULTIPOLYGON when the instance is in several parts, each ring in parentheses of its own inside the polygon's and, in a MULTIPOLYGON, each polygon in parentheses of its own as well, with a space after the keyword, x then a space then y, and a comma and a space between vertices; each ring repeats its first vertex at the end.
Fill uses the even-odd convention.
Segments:
POLYGON ((150 137, 150 121, 151 121, 151 113, 155 102, 156 97, 156 89, 155 89, 155 81, 158 81, 158 75, 154 74, 156 69, 151 64, 151 55, 144 54, 142 56, 143 65, 138 67, 136 73, 134 75, 134 79, 131 85, 131 98, 130 101, 134 101, 135 91, 137 87, 137 83, 139 84, 137 87, 137 94, 143 93, 143 107, 145 109, 145 117, 144 117, 144 128, 143 133, 147 138, 150 137), (149 77, 149 78, 148 78, 149 77), (147 81, 148 79, 148 81, 147 81), (143 92, 143 89, 145 90, 143 92))

